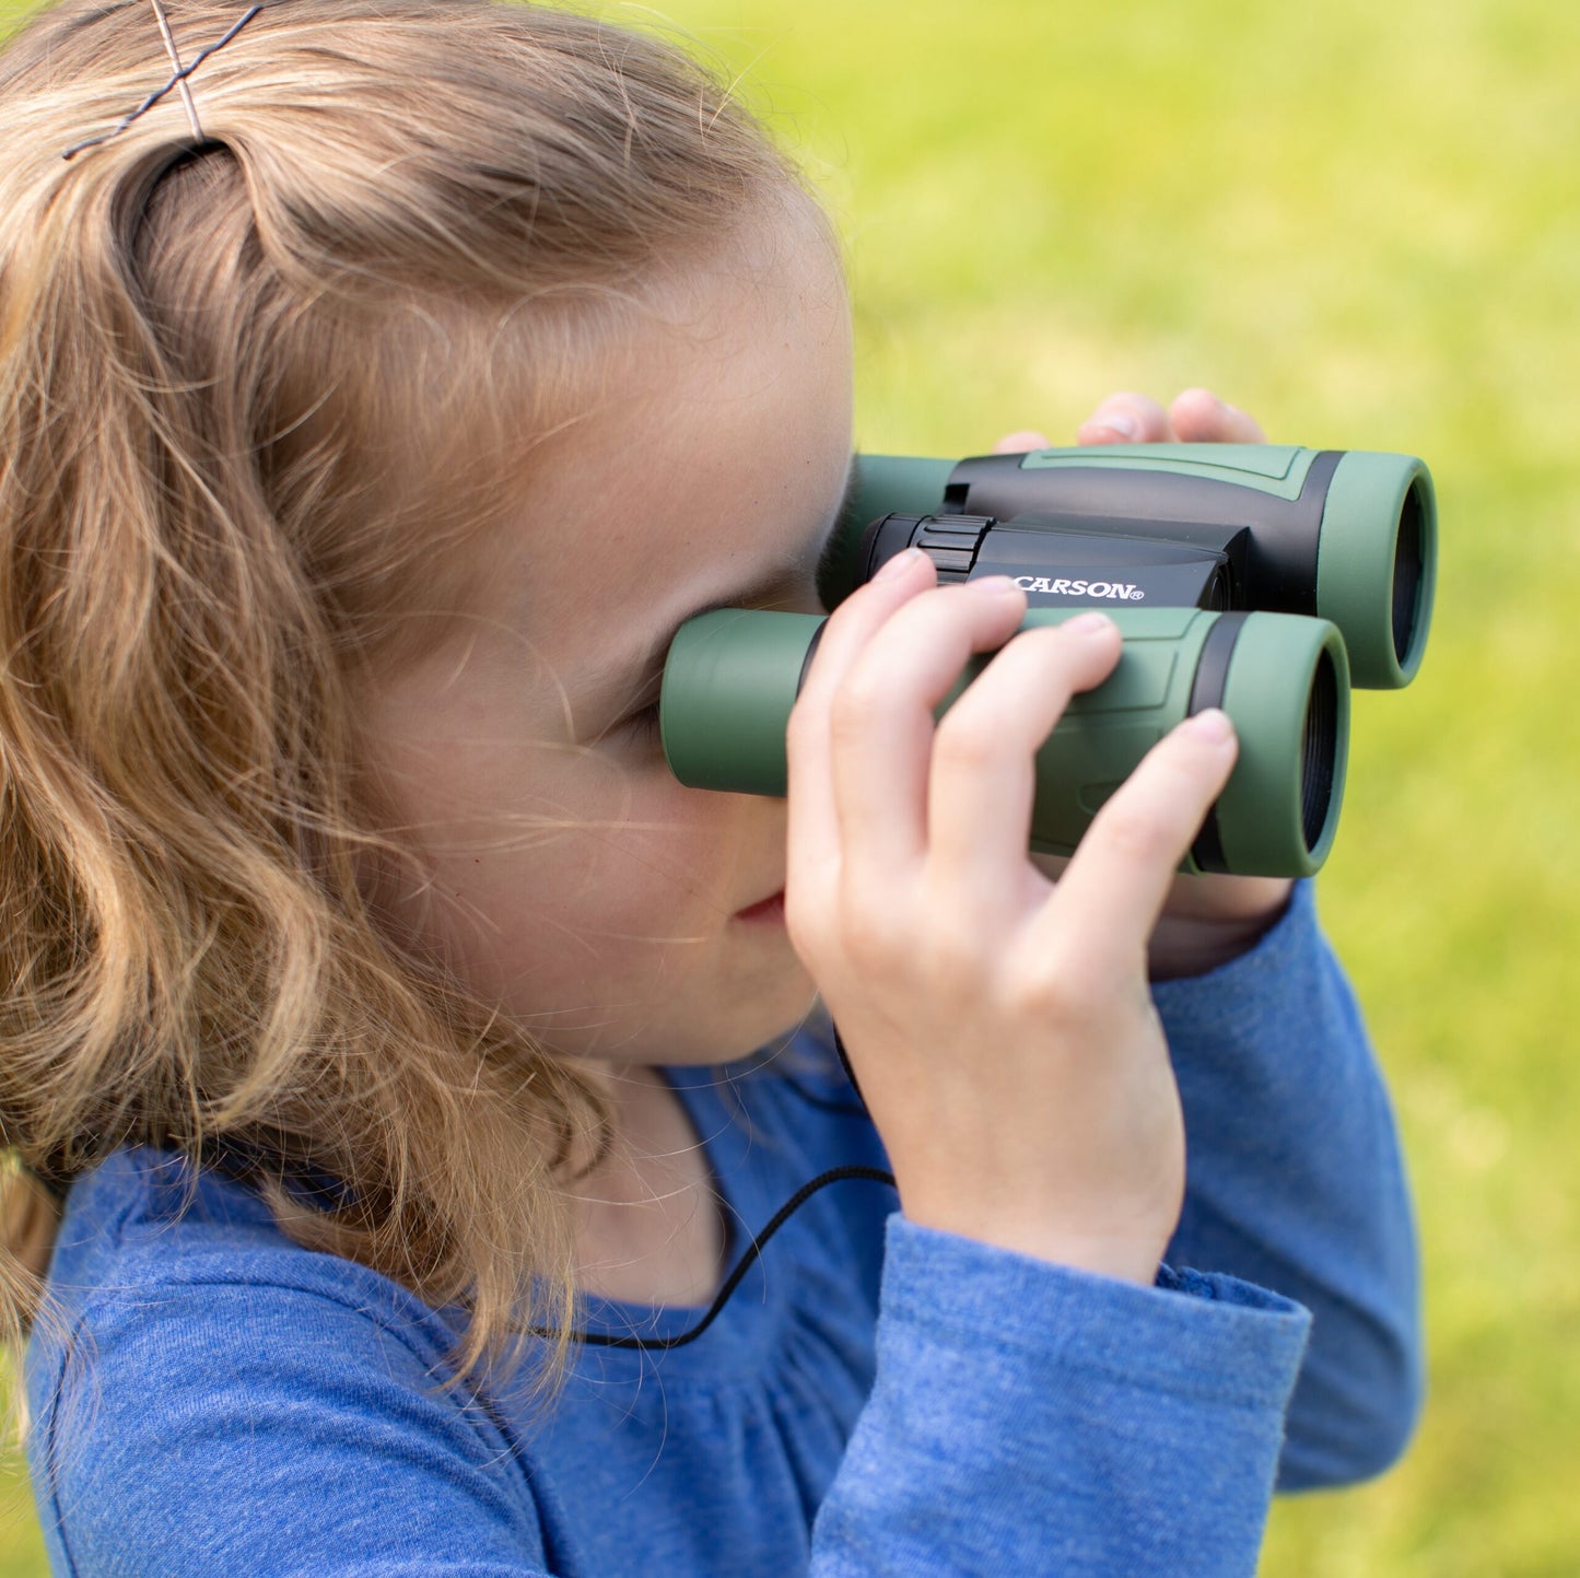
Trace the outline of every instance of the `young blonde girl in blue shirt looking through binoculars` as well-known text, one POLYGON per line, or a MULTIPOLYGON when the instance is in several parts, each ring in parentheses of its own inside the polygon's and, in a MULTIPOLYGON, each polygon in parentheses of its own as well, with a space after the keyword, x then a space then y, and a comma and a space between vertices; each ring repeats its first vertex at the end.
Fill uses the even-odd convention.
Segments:
POLYGON ((1024 599, 904 559, 788 804, 678 787, 670 635, 815 610, 845 490, 782 156, 651 39, 480 0, 278 0, 128 118, 155 22, 62 6, 0 79, 0 1122, 63 1202, 6 1309, 57 1570, 1250 1572, 1275 1472, 1400 1448, 1414 1262, 1308 892, 1168 897, 1223 720, 1055 888, 1030 752, 1115 633, 1010 641, 934 730, 1024 599))

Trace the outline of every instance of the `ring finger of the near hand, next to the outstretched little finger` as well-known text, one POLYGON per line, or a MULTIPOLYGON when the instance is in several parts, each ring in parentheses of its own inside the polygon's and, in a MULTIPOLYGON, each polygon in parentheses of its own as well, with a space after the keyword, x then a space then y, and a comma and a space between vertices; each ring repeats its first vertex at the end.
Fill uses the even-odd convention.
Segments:
POLYGON ((1078 690, 1112 671, 1123 643, 1112 619, 1081 614, 1024 630, 939 723, 927 798, 929 878, 986 924, 1014 902, 1027 864, 1036 749, 1078 690))

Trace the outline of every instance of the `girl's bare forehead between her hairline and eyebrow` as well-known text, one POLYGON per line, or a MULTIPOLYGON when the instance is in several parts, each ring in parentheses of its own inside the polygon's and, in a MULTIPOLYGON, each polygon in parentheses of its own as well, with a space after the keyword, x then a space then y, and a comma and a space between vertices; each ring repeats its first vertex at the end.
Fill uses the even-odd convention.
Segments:
POLYGON ((637 678, 705 603, 807 584, 850 458, 831 250, 785 226, 695 270, 604 374, 591 409, 534 455, 485 588, 581 692, 637 678))

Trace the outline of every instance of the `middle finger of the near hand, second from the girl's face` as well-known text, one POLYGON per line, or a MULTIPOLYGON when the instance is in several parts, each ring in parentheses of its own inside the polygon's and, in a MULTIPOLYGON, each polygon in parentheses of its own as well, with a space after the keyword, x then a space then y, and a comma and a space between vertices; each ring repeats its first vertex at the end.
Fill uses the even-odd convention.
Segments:
POLYGON ((932 714, 973 652, 1025 616, 1003 577, 943 586, 901 608, 861 649, 830 704, 842 870, 855 883, 915 867, 927 843, 932 714))

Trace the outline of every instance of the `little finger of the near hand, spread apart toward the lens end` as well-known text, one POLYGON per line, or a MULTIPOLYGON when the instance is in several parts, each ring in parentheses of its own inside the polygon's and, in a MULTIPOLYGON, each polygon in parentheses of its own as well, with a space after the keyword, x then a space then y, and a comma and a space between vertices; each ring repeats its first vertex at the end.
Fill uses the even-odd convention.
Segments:
POLYGON ((1043 913, 1033 946, 1081 979, 1144 968, 1147 940, 1207 807, 1223 791, 1237 741, 1210 709, 1142 757, 1092 818, 1043 913))

